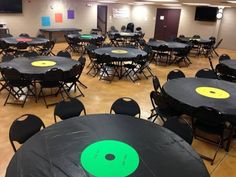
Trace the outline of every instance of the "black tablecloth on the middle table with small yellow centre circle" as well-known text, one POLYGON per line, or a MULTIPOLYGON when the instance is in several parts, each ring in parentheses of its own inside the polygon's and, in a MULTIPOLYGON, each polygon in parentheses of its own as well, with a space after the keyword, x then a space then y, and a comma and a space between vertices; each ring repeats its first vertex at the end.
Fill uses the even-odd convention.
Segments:
POLYGON ((147 55, 147 53, 140 49, 127 48, 127 47, 102 47, 94 50, 97 55, 103 55, 107 53, 111 56, 112 59, 116 61, 130 61, 137 57, 137 55, 142 55, 143 57, 147 55), (125 50, 127 53, 124 54, 116 54, 112 53, 114 50, 125 50))

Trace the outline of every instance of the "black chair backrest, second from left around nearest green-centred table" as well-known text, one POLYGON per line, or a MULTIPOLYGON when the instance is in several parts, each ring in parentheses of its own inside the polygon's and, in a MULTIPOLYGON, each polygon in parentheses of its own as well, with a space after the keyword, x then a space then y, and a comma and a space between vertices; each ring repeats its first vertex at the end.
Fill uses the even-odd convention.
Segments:
POLYGON ((57 117, 61 120, 66 120, 75 116, 80 116, 81 113, 86 115, 86 110, 83 103, 75 98, 71 98, 69 101, 59 102, 54 109, 54 120, 57 122, 57 117))

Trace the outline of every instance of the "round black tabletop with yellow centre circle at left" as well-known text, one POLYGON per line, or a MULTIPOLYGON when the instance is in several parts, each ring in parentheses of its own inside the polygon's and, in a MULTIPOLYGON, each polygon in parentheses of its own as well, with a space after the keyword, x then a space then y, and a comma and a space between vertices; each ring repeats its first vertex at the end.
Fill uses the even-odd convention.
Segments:
POLYGON ((58 68, 66 72, 77 63, 78 61, 76 60, 58 56, 22 57, 15 58, 9 62, 2 62, 0 63, 0 68, 12 67, 27 77, 41 79, 41 77, 52 68, 58 68))

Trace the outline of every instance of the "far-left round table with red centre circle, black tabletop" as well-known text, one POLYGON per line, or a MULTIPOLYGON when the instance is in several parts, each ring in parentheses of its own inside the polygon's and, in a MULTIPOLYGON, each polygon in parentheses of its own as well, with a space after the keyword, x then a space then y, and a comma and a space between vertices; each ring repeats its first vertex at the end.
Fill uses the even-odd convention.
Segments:
POLYGON ((39 46, 39 45, 43 45, 46 42, 48 42, 48 39, 35 38, 35 37, 30 37, 30 38, 26 38, 26 37, 6 37, 6 38, 2 38, 1 40, 5 41, 6 43, 8 43, 9 45, 12 45, 12 46, 15 46, 18 42, 26 42, 30 46, 39 46))

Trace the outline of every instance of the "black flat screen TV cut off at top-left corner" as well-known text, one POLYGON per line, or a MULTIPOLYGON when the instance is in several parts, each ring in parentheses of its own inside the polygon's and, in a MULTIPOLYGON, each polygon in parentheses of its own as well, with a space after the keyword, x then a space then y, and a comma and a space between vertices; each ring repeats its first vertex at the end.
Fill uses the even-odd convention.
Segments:
POLYGON ((0 0, 0 13, 22 13, 22 0, 0 0))

